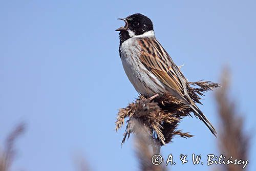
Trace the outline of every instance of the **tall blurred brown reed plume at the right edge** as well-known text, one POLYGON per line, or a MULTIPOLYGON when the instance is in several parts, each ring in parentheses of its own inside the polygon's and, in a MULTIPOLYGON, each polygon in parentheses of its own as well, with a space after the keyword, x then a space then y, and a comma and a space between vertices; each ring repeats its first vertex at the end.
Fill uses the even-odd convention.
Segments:
MULTIPOLYGON (((244 132, 244 116, 238 114, 236 103, 228 97, 229 90, 228 70, 225 69, 221 78, 222 89, 216 92, 218 115, 220 117, 220 143, 221 154, 226 157, 233 156, 233 159, 248 159, 249 135, 244 132)), ((243 165, 224 165, 223 170, 236 171, 242 169, 243 165)))

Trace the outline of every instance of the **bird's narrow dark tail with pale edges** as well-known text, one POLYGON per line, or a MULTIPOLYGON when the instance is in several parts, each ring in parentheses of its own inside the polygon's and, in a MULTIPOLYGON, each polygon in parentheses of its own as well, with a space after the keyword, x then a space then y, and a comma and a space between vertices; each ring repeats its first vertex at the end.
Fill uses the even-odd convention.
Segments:
POLYGON ((210 123, 210 121, 206 118, 206 116, 203 114, 202 111, 200 111, 200 109, 198 108, 198 106, 196 106, 196 104, 190 104, 189 105, 191 109, 193 109, 194 114, 196 117, 198 117, 201 121, 204 122, 204 124, 208 127, 208 129, 210 130, 210 132, 212 134, 214 134, 215 137, 217 137, 217 132, 214 128, 214 126, 210 123))

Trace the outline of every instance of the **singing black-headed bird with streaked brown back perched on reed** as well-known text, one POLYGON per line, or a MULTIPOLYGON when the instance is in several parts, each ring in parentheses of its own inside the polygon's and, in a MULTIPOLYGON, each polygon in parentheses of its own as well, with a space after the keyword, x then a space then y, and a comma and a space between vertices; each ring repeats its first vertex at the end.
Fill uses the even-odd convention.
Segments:
POLYGON ((188 80, 155 37, 152 20, 135 13, 126 18, 119 31, 119 55, 125 74, 143 96, 172 94, 189 106, 196 117, 217 135, 214 126, 188 94, 188 80))

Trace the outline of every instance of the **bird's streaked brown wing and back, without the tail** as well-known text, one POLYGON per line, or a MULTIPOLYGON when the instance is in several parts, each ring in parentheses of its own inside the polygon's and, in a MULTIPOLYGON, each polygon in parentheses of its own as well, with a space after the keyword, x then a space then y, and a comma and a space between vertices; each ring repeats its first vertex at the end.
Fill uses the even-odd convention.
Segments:
POLYGON ((140 61, 167 87, 185 96, 185 77, 155 38, 139 38, 141 46, 140 61), (181 80, 182 79, 182 80, 181 80))

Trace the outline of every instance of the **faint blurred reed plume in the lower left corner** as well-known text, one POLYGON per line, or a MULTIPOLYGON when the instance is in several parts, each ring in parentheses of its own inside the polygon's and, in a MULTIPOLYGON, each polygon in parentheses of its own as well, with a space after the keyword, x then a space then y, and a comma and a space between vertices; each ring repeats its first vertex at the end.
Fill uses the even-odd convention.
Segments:
POLYGON ((17 140, 17 138, 24 132, 25 124, 20 123, 7 137, 4 150, 0 152, 0 171, 10 170, 10 166, 16 154, 14 149, 14 143, 17 140))

